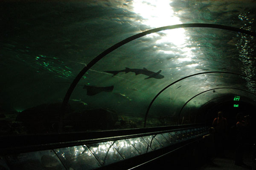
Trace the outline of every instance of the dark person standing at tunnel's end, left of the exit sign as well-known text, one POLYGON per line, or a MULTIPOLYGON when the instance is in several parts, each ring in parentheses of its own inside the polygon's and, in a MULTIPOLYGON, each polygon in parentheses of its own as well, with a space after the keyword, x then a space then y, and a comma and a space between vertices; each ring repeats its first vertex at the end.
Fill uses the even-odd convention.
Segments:
POLYGON ((221 111, 218 112, 218 118, 213 120, 212 127, 215 129, 216 155, 225 157, 224 145, 227 136, 227 119, 223 117, 223 113, 221 111))

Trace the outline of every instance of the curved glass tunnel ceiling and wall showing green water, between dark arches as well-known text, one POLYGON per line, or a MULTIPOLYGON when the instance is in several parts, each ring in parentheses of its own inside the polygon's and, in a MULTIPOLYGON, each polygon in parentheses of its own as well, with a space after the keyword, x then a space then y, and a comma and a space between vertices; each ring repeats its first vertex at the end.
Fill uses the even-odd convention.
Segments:
POLYGON ((222 95, 255 101, 255 37, 193 27, 145 35, 109 53, 82 76, 60 111, 79 72, 121 40, 183 23, 256 32, 255 7, 253 1, 4 1, 0 133, 60 132, 60 114, 63 133, 142 128, 162 89, 203 72, 164 90, 148 111, 146 127, 180 124, 189 110, 222 95), (196 102, 189 101, 195 95, 196 102))

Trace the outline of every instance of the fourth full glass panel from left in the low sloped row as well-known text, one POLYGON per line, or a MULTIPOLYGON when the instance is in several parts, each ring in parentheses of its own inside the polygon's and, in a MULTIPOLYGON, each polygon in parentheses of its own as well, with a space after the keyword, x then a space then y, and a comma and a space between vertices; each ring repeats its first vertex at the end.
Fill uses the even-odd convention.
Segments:
POLYGON ((138 151, 127 139, 111 141, 111 144, 116 148, 116 150, 124 159, 139 155, 138 151))

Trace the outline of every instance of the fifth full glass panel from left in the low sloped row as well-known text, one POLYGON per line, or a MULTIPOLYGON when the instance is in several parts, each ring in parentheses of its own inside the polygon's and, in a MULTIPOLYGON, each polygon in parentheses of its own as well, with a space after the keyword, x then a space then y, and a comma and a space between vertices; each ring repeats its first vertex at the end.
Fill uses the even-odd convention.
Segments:
POLYGON ((143 138, 130 138, 128 141, 131 142, 131 144, 135 147, 135 149, 140 153, 148 153, 151 152, 151 147, 148 146, 148 144, 143 140, 143 138))

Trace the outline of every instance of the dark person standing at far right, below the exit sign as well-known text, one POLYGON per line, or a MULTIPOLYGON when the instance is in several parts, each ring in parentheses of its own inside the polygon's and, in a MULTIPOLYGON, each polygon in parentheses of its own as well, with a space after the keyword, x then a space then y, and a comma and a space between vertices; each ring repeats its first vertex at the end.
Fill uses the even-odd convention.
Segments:
POLYGON ((236 115, 237 123, 236 123, 236 129, 237 129, 237 135, 236 135, 236 165, 245 165, 243 162, 243 146, 245 141, 245 134, 247 129, 247 124, 243 120, 244 117, 241 113, 238 113, 236 115))

